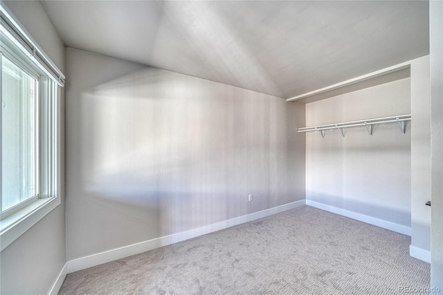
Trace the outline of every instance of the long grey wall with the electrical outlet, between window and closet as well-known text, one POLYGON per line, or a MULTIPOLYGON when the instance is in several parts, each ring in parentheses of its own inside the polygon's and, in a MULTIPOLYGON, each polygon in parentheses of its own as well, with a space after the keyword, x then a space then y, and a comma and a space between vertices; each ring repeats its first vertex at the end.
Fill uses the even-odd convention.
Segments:
POLYGON ((68 260, 305 199, 304 105, 71 48, 66 66, 68 260))

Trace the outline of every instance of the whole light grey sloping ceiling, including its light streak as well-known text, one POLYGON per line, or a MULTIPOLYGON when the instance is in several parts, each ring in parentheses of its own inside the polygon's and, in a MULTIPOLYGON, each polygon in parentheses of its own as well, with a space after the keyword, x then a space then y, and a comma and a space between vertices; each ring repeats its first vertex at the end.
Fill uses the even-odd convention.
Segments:
POLYGON ((291 98, 429 53, 427 1, 41 1, 73 48, 291 98))

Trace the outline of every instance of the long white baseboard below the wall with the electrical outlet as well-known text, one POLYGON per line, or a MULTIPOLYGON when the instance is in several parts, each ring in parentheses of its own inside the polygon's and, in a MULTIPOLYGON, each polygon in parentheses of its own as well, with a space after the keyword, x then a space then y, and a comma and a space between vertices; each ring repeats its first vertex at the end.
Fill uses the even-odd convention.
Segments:
POLYGON ((77 258, 74 260, 69 260, 67 264, 67 273, 71 274, 74 271, 79 271, 81 269, 87 269, 88 267, 94 267, 96 265, 102 265, 103 263, 110 262, 113 260, 125 258, 128 256, 136 255, 138 253, 143 253, 163 247, 169 244, 174 244, 184 240, 198 237, 199 235, 205 235, 206 233, 213 233, 214 231, 219 231, 221 229, 227 229, 230 226, 235 226, 245 222, 251 222, 259 218, 263 218, 269 215, 287 211, 289 209, 297 208, 299 206, 305 205, 305 199, 297 202, 292 202, 278 207, 269 208, 256 213, 251 213, 248 215, 243 215, 230 220, 225 220, 223 222, 217 222, 215 224, 210 224, 208 226, 202 226, 198 229, 192 229, 190 231, 183 231, 181 233, 174 233, 173 235, 166 235, 161 238, 156 238, 153 240, 148 240, 145 242, 140 242, 137 244, 128 245, 118 249, 112 249, 109 251, 96 253, 90 256, 85 256, 82 258, 77 258))

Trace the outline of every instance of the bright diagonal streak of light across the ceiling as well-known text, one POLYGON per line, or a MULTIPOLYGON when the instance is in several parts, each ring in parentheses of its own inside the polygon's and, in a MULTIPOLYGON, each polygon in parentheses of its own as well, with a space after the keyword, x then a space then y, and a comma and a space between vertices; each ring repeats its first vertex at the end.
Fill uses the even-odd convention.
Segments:
MULTIPOLYGON (((186 36, 188 44, 195 48, 203 60, 199 64, 213 64, 204 69, 222 71, 219 75, 229 78, 231 84, 238 81, 243 81, 245 85, 260 84, 264 93, 281 93, 271 75, 266 73, 262 62, 257 60, 253 52, 255 48, 248 46, 238 34, 233 34, 232 24, 228 17, 222 15, 223 10, 219 6, 223 6, 223 3, 165 2, 163 13, 167 19, 162 19, 163 26, 159 26, 159 30, 173 24, 173 30, 167 32, 179 32, 179 37, 186 36), (190 19, 192 26, 189 25, 190 19)), ((170 38, 162 32, 157 36, 156 42, 160 43, 168 43, 161 38, 170 38)), ((153 54, 162 55, 155 50, 153 54)))

